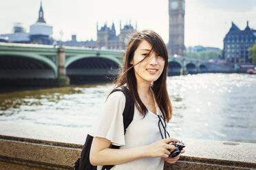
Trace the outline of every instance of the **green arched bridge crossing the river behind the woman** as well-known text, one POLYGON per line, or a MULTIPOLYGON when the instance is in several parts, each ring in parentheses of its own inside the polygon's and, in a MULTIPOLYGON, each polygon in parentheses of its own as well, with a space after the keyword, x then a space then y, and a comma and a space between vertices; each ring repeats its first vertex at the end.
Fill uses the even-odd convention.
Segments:
MULTIPOLYGON (((123 52, 1 42, 0 80, 33 80, 34 85, 41 84, 42 80, 52 84, 60 81, 69 84, 68 79, 71 82, 104 80, 106 76, 118 75, 123 52)), ((205 61, 193 58, 169 56, 168 74, 204 73, 207 71, 206 65, 205 61)))

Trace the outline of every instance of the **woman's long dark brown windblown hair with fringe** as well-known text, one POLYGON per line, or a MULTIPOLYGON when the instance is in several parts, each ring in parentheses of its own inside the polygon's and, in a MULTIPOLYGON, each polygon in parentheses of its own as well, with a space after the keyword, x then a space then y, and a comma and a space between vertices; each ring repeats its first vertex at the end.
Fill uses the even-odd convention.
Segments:
MULTIPOLYGON (((134 58, 134 51, 138 48, 138 45, 142 40, 147 40, 147 42, 149 42, 149 44, 152 46, 151 51, 149 51, 149 54, 145 58, 149 57, 152 51, 155 51, 158 56, 162 56, 165 61, 164 70, 162 71, 162 74, 158 80, 153 82, 152 89, 156 97, 156 103, 158 104, 158 107, 164 115, 164 118, 169 122, 172 116, 172 106, 167 92, 168 52, 164 41, 156 32, 145 29, 140 32, 135 32, 133 36, 131 36, 131 39, 127 45, 127 49, 124 53, 124 58, 122 60, 121 74, 116 81, 115 87, 118 88, 127 84, 127 88, 129 88, 131 96, 135 101, 136 107, 138 108, 140 114, 145 117, 148 110, 138 95, 137 81, 134 73, 134 66, 136 64, 130 64, 131 60, 134 58)), ((143 60, 145 60, 145 58, 143 60)), ((140 62, 142 62, 142 60, 140 62)))

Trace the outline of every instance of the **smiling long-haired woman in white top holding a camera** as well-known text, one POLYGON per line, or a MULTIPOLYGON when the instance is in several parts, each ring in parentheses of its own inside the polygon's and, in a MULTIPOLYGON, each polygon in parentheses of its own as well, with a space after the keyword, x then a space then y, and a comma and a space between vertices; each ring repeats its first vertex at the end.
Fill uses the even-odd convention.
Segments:
POLYGON ((174 149, 169 143, 178 140, 162 139, 164 131, 160 133, 158 126, 160 116, 169 122, 172 115, 166 86, 167 67, 167 48, 156 32, 144 30, 131 37, 116 88, 126 86, 129 89, 135 104, 134 119, 124 135, 125 95, 111 93, 89 132, 94 136, 90 152, 92 165, 115 165, 112 168, 115 170, 163 169, 164 160, 174 163, 180 158, 169 157, 174 149), (112 144, 120 149, 109 148, 112 144))

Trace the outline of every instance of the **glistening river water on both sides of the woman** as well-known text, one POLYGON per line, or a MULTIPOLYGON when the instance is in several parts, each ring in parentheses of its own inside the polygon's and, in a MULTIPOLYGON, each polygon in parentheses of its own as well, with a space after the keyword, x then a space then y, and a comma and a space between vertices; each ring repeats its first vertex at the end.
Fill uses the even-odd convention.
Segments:
MULTIPOLYGON (((114 84, 0 93, 0 123, 89 128, 114 84)), ((256 76, 204 73, 168 77, 175 137, 256 143, 256 76)))

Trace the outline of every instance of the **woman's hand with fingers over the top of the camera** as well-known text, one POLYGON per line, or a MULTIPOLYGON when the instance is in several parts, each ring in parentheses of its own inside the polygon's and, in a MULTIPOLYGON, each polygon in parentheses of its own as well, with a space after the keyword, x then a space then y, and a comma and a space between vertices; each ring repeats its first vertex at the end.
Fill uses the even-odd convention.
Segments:
POLYGON ((174 145, 168 144, 171 142, 178 143, 178 139, 165 138, 148 145, 146 148, 147 155, 150 157, 169 158, 169 154, 171 154, 171 151, 175 148, 174 145))

